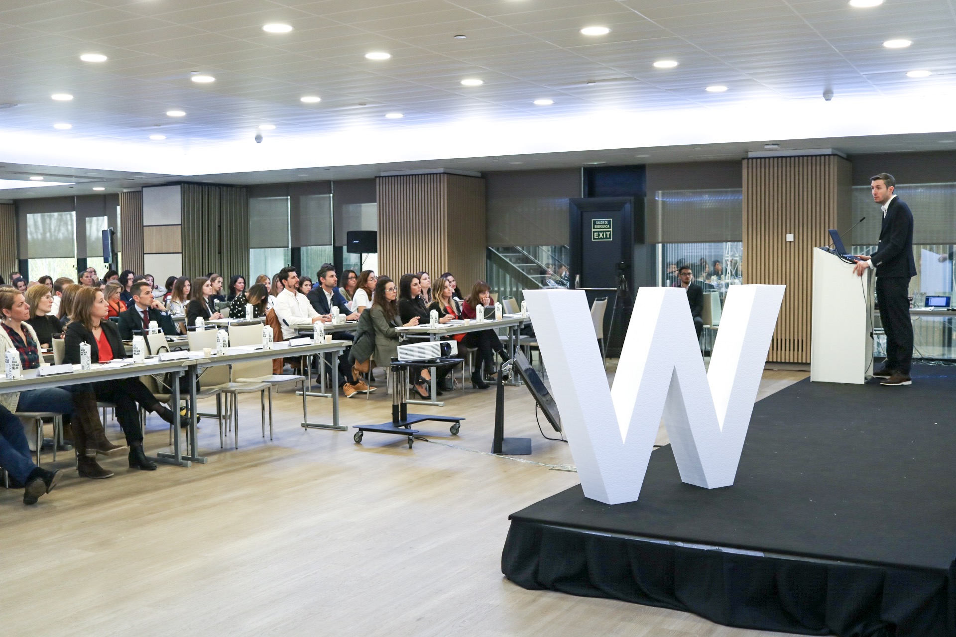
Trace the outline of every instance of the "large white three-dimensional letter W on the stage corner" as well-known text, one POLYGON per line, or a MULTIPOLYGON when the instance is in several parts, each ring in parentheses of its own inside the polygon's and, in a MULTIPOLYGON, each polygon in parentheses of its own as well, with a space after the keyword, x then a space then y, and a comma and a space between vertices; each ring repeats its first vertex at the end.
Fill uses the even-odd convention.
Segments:
POLYGON ((526 290, 584 495, 630 502, 663 416, 681 479, 733 484, 784 286, 732 286, 710 367, 683 288, 641 287, 608 389, 583 291, 526 290))

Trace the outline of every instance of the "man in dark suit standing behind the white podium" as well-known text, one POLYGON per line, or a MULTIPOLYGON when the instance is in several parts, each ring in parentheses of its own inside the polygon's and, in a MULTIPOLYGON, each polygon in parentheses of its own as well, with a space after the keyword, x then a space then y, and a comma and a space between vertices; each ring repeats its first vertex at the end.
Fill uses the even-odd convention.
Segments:
POLYGON ((909 319, 909 280, 916 276, 913 259, 913 213, 893 194, 896 181, 880 173, 870 178, 873 201, 880 204, 883 224, 880 244, 873 254, 857 255, 854 271, 863 276, 867 267, 877 268, 877 303, 880 321, 886 332, 886 362, 874 372, 880 385, 912 383, 909 376, 913 360, 913 324, 909 319))

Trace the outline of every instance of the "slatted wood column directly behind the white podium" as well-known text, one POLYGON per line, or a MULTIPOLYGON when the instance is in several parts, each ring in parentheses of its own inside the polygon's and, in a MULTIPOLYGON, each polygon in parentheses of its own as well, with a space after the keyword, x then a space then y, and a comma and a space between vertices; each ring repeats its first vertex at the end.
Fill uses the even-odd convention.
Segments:
POLYGON ((813 250, 849 227, 850 186, 835 155, 744 160, 744 283, 787 286, 770 361, 810 362, 813 250))

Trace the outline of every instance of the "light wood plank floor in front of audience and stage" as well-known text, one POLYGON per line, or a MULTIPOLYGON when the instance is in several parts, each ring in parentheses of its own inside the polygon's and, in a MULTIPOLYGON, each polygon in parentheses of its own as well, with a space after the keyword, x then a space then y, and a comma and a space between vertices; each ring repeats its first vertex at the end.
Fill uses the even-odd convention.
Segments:
MULTIPOLYGON (((761 397, 806 375, 765 372, 761 397)), ((391 399, 378 394, 343 399, 342 422, 387 420, 391 399)), ((521 387, 507 388, 506 431, 532 437, 531 462, 488 455, 493 398, 469 389, 445 408, 415 407, 467 420, 458 436, 425 423, 433 443, 408 449, 397 436, 366 434, 359 446, 351 431, 303 430, 289 393, 269 442, 247 397, 239 451, 220 451, 215 422, 200 424, 206 465, 145 473, 105 460, 115 478, 68 469, 33 507, 0 488, 0 634, 759 634, 505 580, 509 514, 577 476, 544 466, 573 460, 538 433, 521 387)), ((328 399, 310 400, 314 418, 330 417, 328 399)), ((147 450, 165 444, 162 425, 150 416, 147 450)))

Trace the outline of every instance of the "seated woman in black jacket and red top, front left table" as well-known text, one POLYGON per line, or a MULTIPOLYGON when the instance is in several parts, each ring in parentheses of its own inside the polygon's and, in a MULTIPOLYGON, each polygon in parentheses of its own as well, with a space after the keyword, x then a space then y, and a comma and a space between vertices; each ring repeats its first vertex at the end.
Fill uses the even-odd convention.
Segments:
MULTIPOLYGON (((65 362, 74 365, 79 363, 79 346, 82 343, 90 346, 90 358, 94 363, 125 358, 126 350, 120 340, 120 329, 106 320, 107 313, 109 305, 96 287, 84 287, 76 292, 73 322, 66 329, 64 338, 65 362)), ((140 407, 147 412, 155 412, 168 423, 172 423, 173 413, 156 399, 139 378, 120 378, 92 385, 97 400, 117 406, 117 420, 129 444, 130 468, 154 471, 156 463, 142 451, 140 407)))

